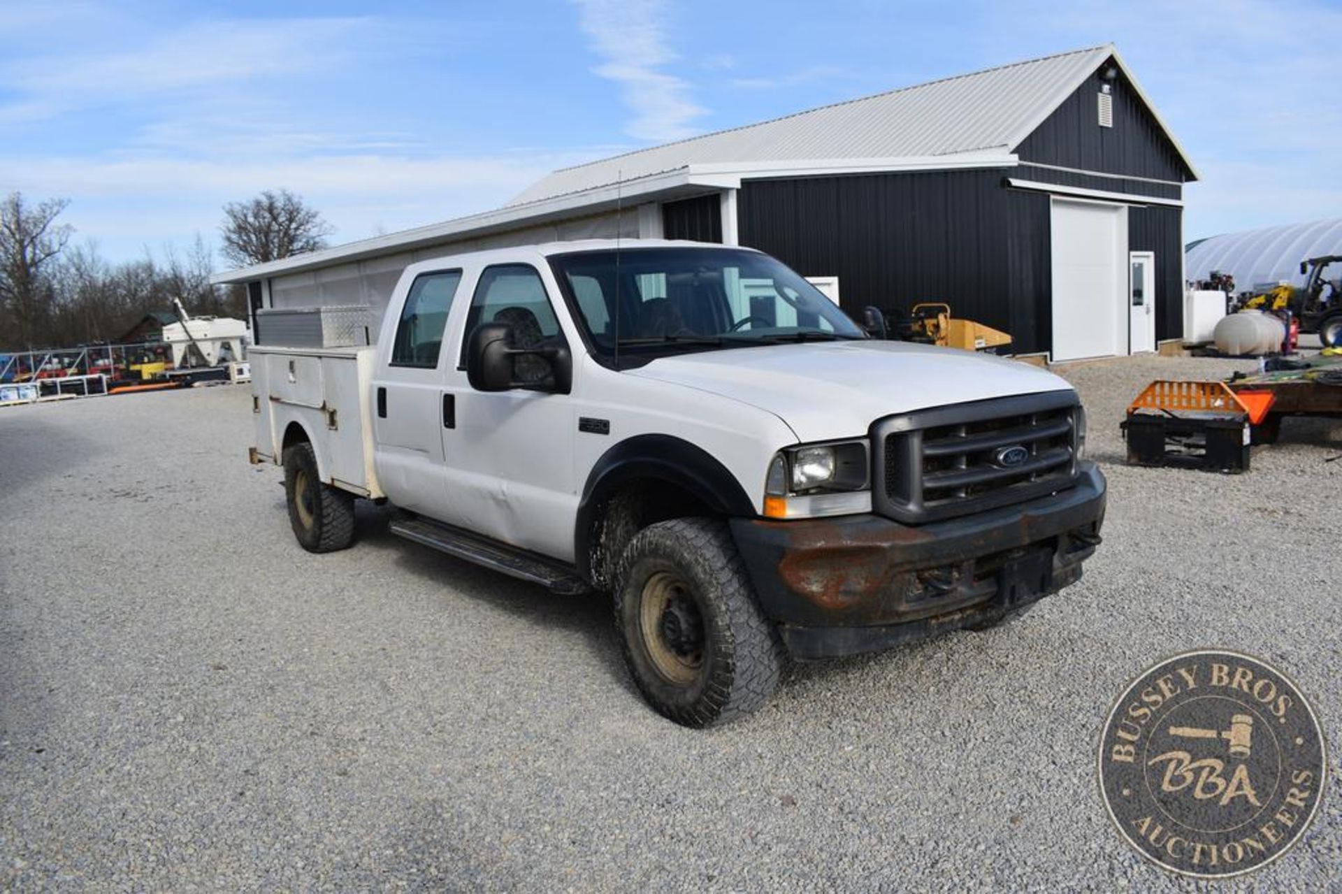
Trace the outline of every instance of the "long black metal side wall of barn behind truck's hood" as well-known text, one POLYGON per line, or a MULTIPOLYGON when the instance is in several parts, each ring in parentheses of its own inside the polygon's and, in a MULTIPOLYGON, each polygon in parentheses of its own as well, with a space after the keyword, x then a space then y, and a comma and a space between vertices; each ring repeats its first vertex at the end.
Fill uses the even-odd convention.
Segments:
POLYGON ((1002 188, 1005 169, 746 181, 741 244, 807 277, 839 277, 844 310, 945 301, 1011 332, 1015 350, 1049 340, 1048 196, 1002 188))

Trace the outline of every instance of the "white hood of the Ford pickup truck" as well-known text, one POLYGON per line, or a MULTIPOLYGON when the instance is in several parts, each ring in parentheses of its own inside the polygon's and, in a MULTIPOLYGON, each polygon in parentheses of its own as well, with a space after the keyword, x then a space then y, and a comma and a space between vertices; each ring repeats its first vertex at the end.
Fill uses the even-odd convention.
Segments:
POLYGON ((864 435, 882 416, 970 400, 1070 391, 1015 360, 898 341, 821 341, 660 357, 629 376, 772 412, 800 442, 864 435))

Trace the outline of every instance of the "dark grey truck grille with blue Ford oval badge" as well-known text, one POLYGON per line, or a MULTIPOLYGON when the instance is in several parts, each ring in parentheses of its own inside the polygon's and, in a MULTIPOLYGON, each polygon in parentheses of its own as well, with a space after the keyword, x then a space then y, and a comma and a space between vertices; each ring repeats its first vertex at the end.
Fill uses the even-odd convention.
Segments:
POLYGON ((980 400, 872 426, 876 511, 906 524, 1035 499, 1076 481, 1071 391, 980 400))

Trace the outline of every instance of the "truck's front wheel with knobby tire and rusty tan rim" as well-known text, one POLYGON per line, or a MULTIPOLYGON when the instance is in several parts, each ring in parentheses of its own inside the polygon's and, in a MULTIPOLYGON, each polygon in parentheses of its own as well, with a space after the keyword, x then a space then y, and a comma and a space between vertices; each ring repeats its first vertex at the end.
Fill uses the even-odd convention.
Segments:
POLYGON ((782 643, 725 524, 650 525, 629 541, 621 566, 615 620, 633 682, 654 709, 684 726, 711 726, 769 699, 782 643))

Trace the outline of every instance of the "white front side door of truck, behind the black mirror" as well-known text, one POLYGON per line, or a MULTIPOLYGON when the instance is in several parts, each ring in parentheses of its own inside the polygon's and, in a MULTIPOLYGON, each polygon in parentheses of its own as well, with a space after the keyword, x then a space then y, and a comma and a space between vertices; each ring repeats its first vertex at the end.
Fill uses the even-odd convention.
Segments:
MULTIPOLYGON (((452 428, 443 430, 443 450, 458 524, 514 546, 572 560, 577 511, 572 399, 526 389, 479 392, 466 377, 464 349, 480 324, 509 324, 519 348, 566 342, 549 289, 531 264, 493 264, 480 271, 462 326, 456 368, 447 379, 456 419, 452 428)), ((518 358, 521 379, 539 377, 545 370, 535 358, 518 358)))

